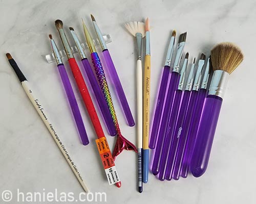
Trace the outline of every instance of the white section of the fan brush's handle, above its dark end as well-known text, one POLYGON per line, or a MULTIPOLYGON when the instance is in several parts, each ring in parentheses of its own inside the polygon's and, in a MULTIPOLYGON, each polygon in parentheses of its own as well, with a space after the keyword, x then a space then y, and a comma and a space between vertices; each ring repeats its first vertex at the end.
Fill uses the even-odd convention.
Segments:
POLYGON ((142 90, 142 63, 137 60, 137 138, 138 148, 143 144, 143 90, 142 90))

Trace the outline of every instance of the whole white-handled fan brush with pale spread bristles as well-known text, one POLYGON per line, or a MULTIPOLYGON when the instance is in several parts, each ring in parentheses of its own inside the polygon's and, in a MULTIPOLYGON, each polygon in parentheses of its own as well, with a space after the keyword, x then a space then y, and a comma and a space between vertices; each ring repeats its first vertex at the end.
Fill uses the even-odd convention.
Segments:
POLYGON ((143 123, 142 123, 142 107, 143 107, 143 90, 142 90, 142 38, 145 36, 145 24, 139 21, 131 21, 125 23, 125 28, 136 37, 137 42, 137 147, 138 147, 138 189, 142 192, 142 164, 141 152, 143 144, 143 123))

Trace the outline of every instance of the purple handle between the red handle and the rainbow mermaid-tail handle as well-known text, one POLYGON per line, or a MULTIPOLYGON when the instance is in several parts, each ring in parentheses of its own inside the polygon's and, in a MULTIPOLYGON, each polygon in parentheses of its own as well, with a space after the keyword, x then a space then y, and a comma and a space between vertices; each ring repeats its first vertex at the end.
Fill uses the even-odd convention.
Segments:
POLYGON ((105 98, 102 94, 102 91, 99 87, 98 81, 94 75, 92 67, 87 58, 82 59, 82 65, 83 65, 84 70, 86 70, 87 77, 90 81, 91 87, 93 89, 94 95, 96 97, 98 106, 100 108, 100 111, 101 111, 104 121, 106 123, 106 126, 108 127, 109 133, 111 136, 115 136, 116 129, 115 129, 114 122, 112 120, 112 116, 109 111, 109 107, 108 107, 108 105, 106 105, 105 98))

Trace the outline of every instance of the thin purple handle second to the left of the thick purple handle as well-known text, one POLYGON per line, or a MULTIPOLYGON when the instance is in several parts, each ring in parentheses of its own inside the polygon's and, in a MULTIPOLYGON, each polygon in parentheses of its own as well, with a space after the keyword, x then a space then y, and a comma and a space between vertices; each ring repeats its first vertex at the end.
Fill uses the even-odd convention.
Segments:
POLYGON ((189 124, 191 121, 193 109, 196 104, 197 95, 198 95, 198 91, 191 91, 189 104, 188 104, 188 108, 187 108, 187 113, 186 113, 184 123, 182 125, 182 131, 181 131, 181 135, 180 135, 178 151, 177 151, 177 155, 176 155, 176 159, 175 159, 175 167, 174 167, 174 173, 173 173, 174 180, 178 180, 180 177, 181 167, 182 167, 181 164, 182 164, 182 159, 184 156, 184 151, 185 151, 185 146, 186 146, 186 141, 187 141, 188 128, 189 128, 189 124))

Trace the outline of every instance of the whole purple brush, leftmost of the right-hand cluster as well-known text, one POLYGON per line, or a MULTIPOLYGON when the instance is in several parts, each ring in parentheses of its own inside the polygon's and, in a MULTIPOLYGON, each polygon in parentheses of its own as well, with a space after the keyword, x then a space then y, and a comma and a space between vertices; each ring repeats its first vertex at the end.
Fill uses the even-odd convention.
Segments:
POLYGON ((173 53, 174 53, 175 36, 176 36, 176 31, 174 30, 172 33, 172 36, 170 37, 166 59, 165 59, 163 72, 162 72, 162 78, 160 82, 160 88, 157 96, 157 104, 156 104, 156 110, 155 110, 154 119, 152 123, 152 130, 151 130, 150 144, 149 144, 149 147, 151 149, 155 149, 156 147, 156 141, 157 141, 160 121, 162 117, 162 112, 163 112, 164 100, 166 96, 166 89, 168 85, 168 78, 170 75, 170 63, 172 62, 173 53))

